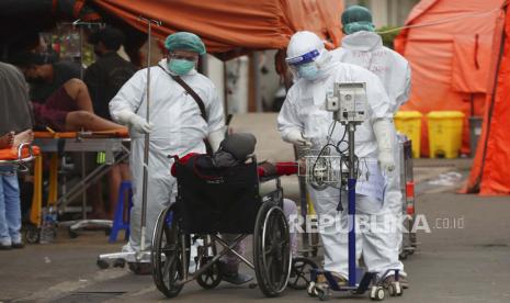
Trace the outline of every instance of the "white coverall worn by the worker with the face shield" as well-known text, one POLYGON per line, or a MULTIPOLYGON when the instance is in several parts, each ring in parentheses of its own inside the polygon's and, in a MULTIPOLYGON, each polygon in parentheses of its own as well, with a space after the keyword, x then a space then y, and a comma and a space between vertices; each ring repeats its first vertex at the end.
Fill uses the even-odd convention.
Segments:
MULTIPOLYGON (((388 97, 379 79, 372 72, 361 67, 338 61, 330 61, 321 69, 322 75, 315 81, 303 78, 290 89, 283 108, 280 112, 277 124, 282 137, 288 141, 288 135, 296 131, 313 144, 313 149, 320 149, 327 143, 332 113, 325 110, 327 93, 333 91, 335 82, 365 82, 369 100, 367 120, 356 126, 355 155, 360 160, 361 176, 356 183, 356 215, 374 215, 377 218, 371 224, 381 225, 383 213, 384 178, 377 165, 378 148, 374 123, 392 119, 388 97), (366 178, 367 177, 367 178, 366 178), (366 180, 367 179, 367 180, 366 180)), ((390 125, 394 132, 393 125, 390 125)), ((342 137, 344 127, 337 123, 331 141, 337 143, 342 137)), ((319 232, 325 247, 325 269, 348 277, 348 233, 347 233, 347 194, 342 194, 343 212, 337 211, 340 199, 340 190, 327 188, 316 190, 308 186, 310 198, 319 215, 319 232), (333 217, 341 225, 326 222, 333 217)), ((356 218, 356 223, 360 220, 356 218)), ((356 260, 363 258, 367 270, 383 273, 386 269, 400 269, 398 254, 387 250, 386 242, 396 242, 395 236, 375 231, 360 233, 356 227, 356 260)), ((396 243, 394 243, 396 246, 396 243)), ((398 250, 398 249, 397 249, 398 250)))

